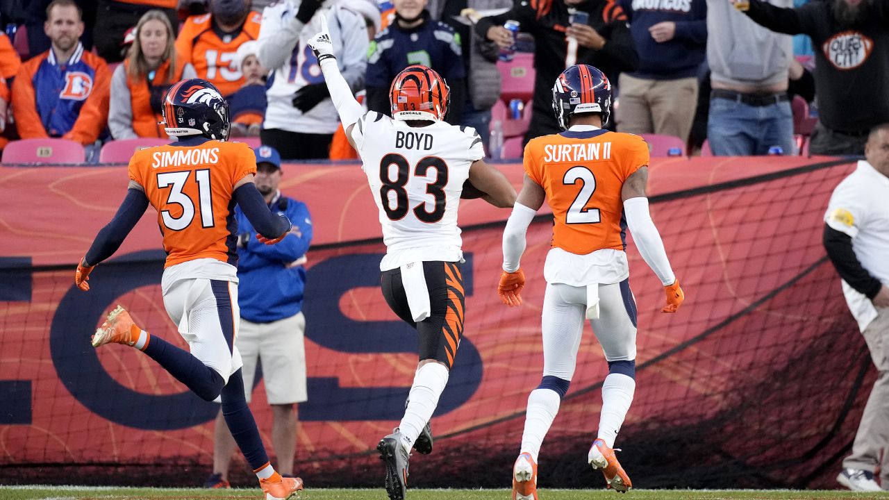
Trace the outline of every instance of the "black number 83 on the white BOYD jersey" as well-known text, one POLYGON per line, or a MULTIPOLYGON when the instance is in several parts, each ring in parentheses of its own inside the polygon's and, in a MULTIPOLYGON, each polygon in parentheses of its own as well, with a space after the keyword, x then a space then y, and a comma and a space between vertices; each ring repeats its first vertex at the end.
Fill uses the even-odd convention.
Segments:
MULTIPOLYGON (((426 186, 426 192, 435 198, 435 207, 432 212, 426 209, 427 202, 420 203, 413 207, 413 214, 422 222, 438 222, 445 216, 445 206, 447 205, 447 197, 445 196, 445 186, 447 185, 447 164, 445 160, 439 157, 425 157, 417 163, 417 167, 413 170, 414 175, 426 176, 429 168, 436 169, 436 179, 426 186)), ((390 221, 400 221, 407 215, 408 198, 407 190, 404 186, 410 180, 411 165, 407 164, 407 158, 396 153, 389 153, 380 160, 380 201, 383 204, 383 210, 390 221), (396 165, 398 173, 395 179, 389 174, 389 167, 396 165), (395 207, 389 199, 389 192, 395 192, 395 207)))

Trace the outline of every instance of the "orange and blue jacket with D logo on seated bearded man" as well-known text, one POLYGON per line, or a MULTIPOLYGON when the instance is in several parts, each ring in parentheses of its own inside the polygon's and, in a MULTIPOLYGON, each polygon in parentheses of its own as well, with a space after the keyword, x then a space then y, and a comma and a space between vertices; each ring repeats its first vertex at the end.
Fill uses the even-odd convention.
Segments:
POLYGON ((80 43, 64 65, 52 50, 22 63, 12 84, 21 138, 63 137, 92 144, 108 123, 110 88, 105 60, 85 52, 80 43))

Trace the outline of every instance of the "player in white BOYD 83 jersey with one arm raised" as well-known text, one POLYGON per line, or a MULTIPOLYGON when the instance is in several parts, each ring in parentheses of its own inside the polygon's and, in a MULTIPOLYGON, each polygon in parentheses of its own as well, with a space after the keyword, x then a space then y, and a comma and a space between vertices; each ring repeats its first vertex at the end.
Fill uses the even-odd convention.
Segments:
POLYGON ((449 90, 432 69, 409 66, 395 77, 389 90, 392 118, 365 112, 340 76, 325 24, 308 44, 380 209, 387 248, 380 262, 383 296, 399 318, 417 329, 420 341, 420 364, 404 418, 377 446, 386 464, 388 496, 401 500, 411 448, 431 449, 431 442, 420 449, 418 437, 436 409, 460 345, 464 296, 457 206, 467 196, 464 182, 474 188, 472 196, 504 208, 513 206, 516 190, 482 160, 485 152, 475 129, 443 121, 449 90))

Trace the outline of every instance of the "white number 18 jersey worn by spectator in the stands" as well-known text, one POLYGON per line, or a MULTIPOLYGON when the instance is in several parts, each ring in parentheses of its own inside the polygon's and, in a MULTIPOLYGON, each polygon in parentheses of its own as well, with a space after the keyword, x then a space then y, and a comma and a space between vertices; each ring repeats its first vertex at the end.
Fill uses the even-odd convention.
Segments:
MULTIPOLYGON (((260 44, 268 43, 284 27, 288 26, 300 6, 298 0, 284 0, 269 5, 262 11, 260 44)), ((308 40, 321 31, 321 16, 327 16, 333 53, 336 54, 340 73, 353 91, 364 88, 367 69, 367 28, 364 17, 348 6, 335 4, 330 9, 319 9, 300 31, 300 41, 284 65, 272 75, 272 84, 266 91, 268 106, 262 128, 280 129, 299 133, 334 133, 340 126, 336 108, 330 99, 321 101, 308 113, 293 107, 293 95, 306 85, 324 85, 324 75, 318 60, 308 46, 308 40)), ((272 42, 274 43, 274 41, 272 42)))

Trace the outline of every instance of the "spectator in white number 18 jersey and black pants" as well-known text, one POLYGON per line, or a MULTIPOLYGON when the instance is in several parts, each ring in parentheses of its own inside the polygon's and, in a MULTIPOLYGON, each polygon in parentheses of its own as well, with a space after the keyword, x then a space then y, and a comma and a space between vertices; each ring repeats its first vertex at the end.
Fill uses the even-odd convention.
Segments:
POLYGON ((318 32, 322 17, 331 20, 330 35, 340 54, 342 76, 353 92, 364 88, 366 21, 343 2, 332 3, 283 0, 262 12, 259 58, 274 73, 266 91, 268 107, 260 138, 283 159, 327 158, 333 133, 340 126, 324 76, 308 47, 308 38, 318 32))

